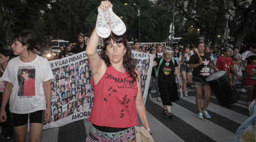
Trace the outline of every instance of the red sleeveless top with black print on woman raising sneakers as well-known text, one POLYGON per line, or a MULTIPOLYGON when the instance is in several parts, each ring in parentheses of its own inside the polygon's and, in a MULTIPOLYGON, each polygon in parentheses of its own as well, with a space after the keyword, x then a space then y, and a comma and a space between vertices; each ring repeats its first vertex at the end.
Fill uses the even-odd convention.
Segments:
POLYGON ((136 111, 137 82, 132 82, 128 71, 116 71, 112 66, 97 85, 94 85, 93 107, 88 120, 98 126, 128 128, 138 125, 136 111))

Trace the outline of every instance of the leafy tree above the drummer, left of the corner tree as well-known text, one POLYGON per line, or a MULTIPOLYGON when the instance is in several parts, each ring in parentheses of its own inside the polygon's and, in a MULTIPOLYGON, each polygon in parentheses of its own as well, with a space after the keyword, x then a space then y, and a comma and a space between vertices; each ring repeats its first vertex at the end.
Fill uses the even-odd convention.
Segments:
POLYGON ((193 21, 200 31, 211 35, 212 47, 215 48, 218 34, 224 33, 226 26, 225 4, 214 0, 180 0, 176 6, 184 18, 193 21))

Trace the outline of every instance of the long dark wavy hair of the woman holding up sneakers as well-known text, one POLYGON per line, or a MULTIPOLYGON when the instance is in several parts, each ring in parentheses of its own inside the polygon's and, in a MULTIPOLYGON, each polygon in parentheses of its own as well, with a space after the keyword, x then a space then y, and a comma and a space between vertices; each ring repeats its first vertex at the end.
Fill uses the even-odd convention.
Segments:
POLYGON ((109 36, 108 38, 106 38, 104 40, 104 46, 100 53, 100 58, 102 58, 105 61, 108 67, 111 65, 108 55, 106 55, 106 49, 107 49, 107 46, 111 44, 112 40, 113 42, 124 44, 124 48, 126 49, 126 52, 123 57, 123 65, 124 65, 124 68, 128 71, 128 75, 132 77, 132 81, 133 82, 136 81, 136 78, 138 77, 137 73, 135 72, 136 61, 133 58, 132 50, 130 49, 129 44, 127 44, 128 40, 124 35, 116 35, 112 33, 112 36, 109 36))

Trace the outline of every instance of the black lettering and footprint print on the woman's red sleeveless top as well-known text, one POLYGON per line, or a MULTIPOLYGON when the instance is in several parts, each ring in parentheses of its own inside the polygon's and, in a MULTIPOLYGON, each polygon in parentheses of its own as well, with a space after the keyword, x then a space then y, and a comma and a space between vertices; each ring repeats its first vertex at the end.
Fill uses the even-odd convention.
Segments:
MULTIPOLYGON (((119 102, 119 104, 116 104, 117 109, 120 109, 120 118, 123 118, 125 116, 125 110, 129 107, 129 102, 131 99, 136 100, 137 94, 135 93, 128 93, 128 92, 122 92, 121 89, 129 88, 129 89, 137 89, 137 85, 134 85, 134 82, 131 80, 127 80, 126 78, 116 78, 113 77, 111 74, 106 73, 105 78, 113 79, 117 83, 117 88, 114 88, 113 86, 109 86, 103 83, 103 88, 108 88, 108 92, 106 97, 103 99, 106 103, 114 103, 119 102), (117 101, 116 101, 117 100, 117 101), (122 108, 119 108, 122 106, 122 108)), ((103 104, 104 105, 104 104, 103 104)), ((107 105, 107 104, 105 104, 107 105)), ((129 117, 129 116, 127 116, 129 117)))

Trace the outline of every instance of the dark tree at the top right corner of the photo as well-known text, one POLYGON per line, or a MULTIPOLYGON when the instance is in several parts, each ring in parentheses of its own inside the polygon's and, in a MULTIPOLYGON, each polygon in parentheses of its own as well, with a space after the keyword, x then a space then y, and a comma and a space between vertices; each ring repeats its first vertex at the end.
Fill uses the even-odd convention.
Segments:
POLYGON ((235 45, 240 47, 243 39, 256 32, 256 0, 226 0, 229 13, 228 27, 235 45))

